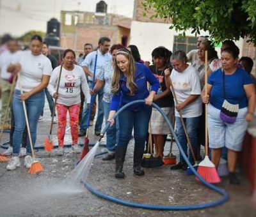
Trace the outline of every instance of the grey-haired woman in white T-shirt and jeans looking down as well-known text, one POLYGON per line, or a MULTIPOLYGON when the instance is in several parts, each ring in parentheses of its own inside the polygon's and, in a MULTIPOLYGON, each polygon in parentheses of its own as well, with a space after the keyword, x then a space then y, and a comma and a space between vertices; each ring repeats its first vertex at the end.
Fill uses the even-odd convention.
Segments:
MULTIPOLYGON (((171 56, 171 63, 173 66, 171 75, 169 69, 164 70, 164 74, 166 76, 166 86, 170 87, 171 79, 177 96, 178 104, 175 102, 175 117, 177 137, 179 138, 180 146, 184 153, 188 152, 188 141, 182 127, 179 111, 182 113, 186 130, 188 131, 188 136, 195 153, 198 123, 200 116, 202 115, 202 99, 200 97, 201 87, 198 72, 187 62, 188 57, 186 56, 186 53, 182 50, 177 50, 171 56)), ((190 150, 189 161, 192 165, 195 163, 190 150)), ((186 170, 187 165, 183 156, 180 154, 179 163, 171 167, 171 169, 177 170, 181 168, 186 170)))

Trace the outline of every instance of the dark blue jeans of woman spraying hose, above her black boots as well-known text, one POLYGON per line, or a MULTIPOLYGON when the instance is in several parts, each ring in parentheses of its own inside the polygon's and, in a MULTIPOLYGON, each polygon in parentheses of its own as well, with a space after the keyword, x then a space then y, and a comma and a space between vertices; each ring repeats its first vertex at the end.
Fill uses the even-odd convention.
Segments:
POLYGON ((118 146, 127 147, 134 128, 134 148, 145 147, 148 132, 148 122, 151 116, 152 107, 146 107, 140 111, 125 109, 118 116, 118 146))

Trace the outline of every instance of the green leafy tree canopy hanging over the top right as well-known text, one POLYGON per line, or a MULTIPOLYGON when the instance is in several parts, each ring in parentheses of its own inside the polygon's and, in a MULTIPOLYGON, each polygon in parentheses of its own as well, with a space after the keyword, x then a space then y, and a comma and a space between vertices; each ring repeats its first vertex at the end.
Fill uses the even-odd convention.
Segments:
POLYGON ((248 37, 256 44, 256 0, 144 0, 146 11, 154 17, 172 19, 176 31, 209 31, 215 41, 248 37))

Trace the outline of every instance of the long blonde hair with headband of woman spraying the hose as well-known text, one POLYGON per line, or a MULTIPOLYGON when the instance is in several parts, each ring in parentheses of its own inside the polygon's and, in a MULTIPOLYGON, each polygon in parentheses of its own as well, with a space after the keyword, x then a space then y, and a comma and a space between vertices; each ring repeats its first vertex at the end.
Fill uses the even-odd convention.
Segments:
MULTIPOLYGON (((134 95, 136 89, 137 89, 137 85, 134 82, 135 79, 135 71, 136 71, 136 67, 135 67, 135 63, 134 63, 134 59, 132 57, 131 52, 129 52, 129 50, 127 49, 120 49, 118 50, 118 52, 116 52, 116 57, 118 55, 123 55, 125 56, 128 61, 129 61, 129 66, 127 69, 127 82, 126 82, 126 86, 130 91, 131 95, 134 95)), ((120 77, 121 74, 123 73, 117 66, 116 63, 116 57, 115 57, 115 61, 114 61, 114 74, 113 74, 113 78, 112 78, 112 93, 117 93, 119 88, 120 88, 120 77)))

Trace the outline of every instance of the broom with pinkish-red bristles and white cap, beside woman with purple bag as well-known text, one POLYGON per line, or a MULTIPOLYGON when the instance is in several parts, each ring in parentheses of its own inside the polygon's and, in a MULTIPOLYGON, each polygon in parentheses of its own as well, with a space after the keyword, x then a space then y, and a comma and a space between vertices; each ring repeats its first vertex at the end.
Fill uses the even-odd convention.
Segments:
MULTIPOLYGON (((207 50, 205 50, 205 96, 207 96, 207 50)), ((208 105, 205 103, 205 158, 198 165, 198 174, 208 183, 220 183, 220 176, 208 156, 208 105)), ((197 180, 199 180, 196 177, 197 180)))

